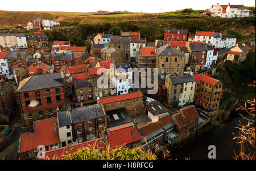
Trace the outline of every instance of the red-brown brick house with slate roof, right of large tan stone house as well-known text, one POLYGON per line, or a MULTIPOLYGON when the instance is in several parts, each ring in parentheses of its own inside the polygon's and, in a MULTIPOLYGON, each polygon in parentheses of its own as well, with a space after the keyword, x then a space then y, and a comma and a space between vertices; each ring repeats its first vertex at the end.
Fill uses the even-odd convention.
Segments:
POLYGON ((207 48, 205 45, 198 42, 187 42, 186 46, 189 52, 188 65, 193 67, 195 72, 203 69, 207 61, 207 48))

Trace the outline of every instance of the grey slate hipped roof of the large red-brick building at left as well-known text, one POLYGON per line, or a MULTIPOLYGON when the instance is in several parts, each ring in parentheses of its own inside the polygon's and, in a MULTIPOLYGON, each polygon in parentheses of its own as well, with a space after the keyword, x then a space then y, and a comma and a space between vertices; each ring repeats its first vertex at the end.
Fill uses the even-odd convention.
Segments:
POLYGON ((18 92, 64 86, 60 73, 31 76, 18 92))

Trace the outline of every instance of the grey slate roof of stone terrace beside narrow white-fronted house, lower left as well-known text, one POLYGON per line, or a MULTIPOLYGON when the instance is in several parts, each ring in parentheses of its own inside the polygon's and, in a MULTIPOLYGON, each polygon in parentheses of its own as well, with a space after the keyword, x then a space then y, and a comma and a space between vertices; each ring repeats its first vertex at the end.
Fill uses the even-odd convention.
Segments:
POLYGON ((98 113, 98 118, 105 117, 101 105, 90 105, 82 108, 71 109, 72 123, 90 121, 95 118, 95 113, 98 113))

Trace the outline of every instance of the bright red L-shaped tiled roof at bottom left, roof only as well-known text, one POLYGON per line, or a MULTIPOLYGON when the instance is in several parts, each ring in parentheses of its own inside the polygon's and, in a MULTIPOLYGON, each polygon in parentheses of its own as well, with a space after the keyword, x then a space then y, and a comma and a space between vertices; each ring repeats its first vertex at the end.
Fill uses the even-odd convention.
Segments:
POLYGON ((35 121, 34 132, 21 135, 20 153, 37 149, 39 145, 50 146, 60 143, 59 132, 54 131, 54 122, 58 129, 57 118, 35 121))

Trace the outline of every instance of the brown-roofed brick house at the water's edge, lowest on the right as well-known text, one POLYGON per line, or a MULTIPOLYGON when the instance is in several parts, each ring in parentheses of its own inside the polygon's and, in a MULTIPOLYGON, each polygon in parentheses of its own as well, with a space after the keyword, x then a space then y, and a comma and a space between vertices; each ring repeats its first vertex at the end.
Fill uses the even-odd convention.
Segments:
POLYGON ((188 138, 189 135, 195 134, 199 126, 199 113, 193 105, 176 110, 171 118, 180 134, 177 138, 178 142, 188 138))

